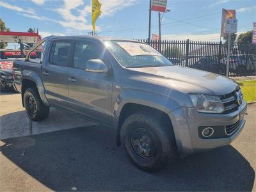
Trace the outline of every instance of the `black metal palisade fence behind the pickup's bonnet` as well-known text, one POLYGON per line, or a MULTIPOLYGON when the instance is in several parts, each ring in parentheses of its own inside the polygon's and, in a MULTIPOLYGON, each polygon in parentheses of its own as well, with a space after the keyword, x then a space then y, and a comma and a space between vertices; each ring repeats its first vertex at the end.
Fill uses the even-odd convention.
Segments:
MULTIPOLYGON (((148 43, 147 40, 138 40, 148 43)), ((190 40, 151 40, 149 45, 161 52, 173 64, 197 68, 225 75, 227 44, 223 42, 195 42, 190 40)), ((229 77, 255 76, 256 46, 232 44, 229 77)))

